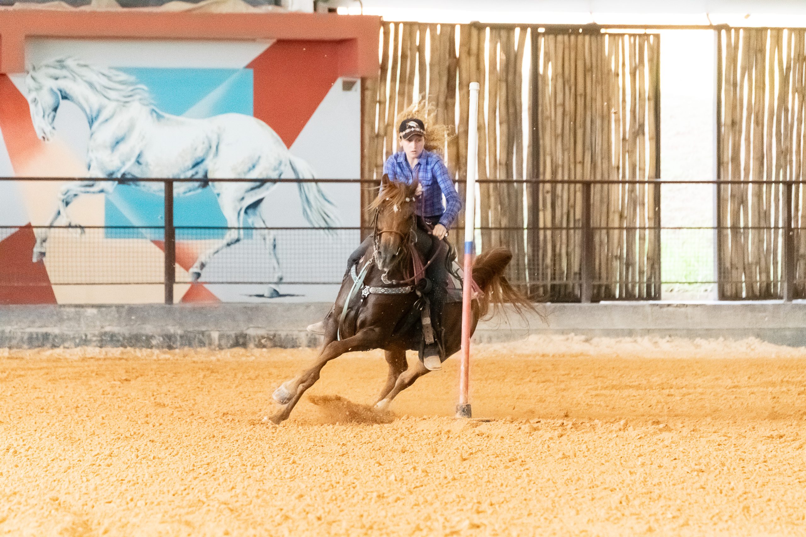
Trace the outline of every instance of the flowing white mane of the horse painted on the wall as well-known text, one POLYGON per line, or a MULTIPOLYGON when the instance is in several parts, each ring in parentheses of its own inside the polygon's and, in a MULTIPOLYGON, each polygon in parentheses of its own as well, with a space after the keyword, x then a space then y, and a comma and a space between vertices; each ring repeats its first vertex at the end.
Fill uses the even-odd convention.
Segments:
POLYGON ((81 82, 110 101, 154 105, 151 93, 144 85, 139 84, 135 77, 116 69, 91 65, 70 56, 32 67, 27 76, 27 84, 30 89, 35 90, 41 87, 40 77, 50 78, 54 81, 69 78, 81 82))

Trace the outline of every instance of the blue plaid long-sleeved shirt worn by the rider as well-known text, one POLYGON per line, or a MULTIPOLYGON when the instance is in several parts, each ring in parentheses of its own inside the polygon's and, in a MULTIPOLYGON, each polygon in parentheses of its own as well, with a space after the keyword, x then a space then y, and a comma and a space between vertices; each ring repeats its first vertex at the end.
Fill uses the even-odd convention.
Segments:
POLYGON ((442 158, 430 151, 422 151, 418 163, 411 169, 405 152, 397 151, 390 155, 384 164, 384 174, 390 181, 402 181, 411 184, 414 177, 418 177, 422 184, 422 196, 417 206, 417 213, 421 217, 440 217, 439 223, 446 229, 456 220, 456 215, 462 209, 462 200, 448 173, 448 168, 442 158), (442 206, 442 195, 445 195, 447 207, 442 206))

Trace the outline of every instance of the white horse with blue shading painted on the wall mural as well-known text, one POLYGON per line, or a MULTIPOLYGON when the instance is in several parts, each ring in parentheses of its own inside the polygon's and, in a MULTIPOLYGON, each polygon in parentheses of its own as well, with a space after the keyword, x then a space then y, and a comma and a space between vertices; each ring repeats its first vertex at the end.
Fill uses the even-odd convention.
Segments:
MULTIPOLYGON (((193 119, 165 114, 157 109, 145 86, 131 76, 110 68, 98 68, 73 58, 52 60, 31 68, 27 78, 27 99, 31 119, 39 138, 52 138, 56 112, 61 101, 72 101, 89 123, 87 176, 71 182, 60 192, 59 208, 48 229, 37 233, 34 262, 45 256, 48 231, 60 218, 70 221, 67 208, 81 194, 109 193, 117 181, 147 192, 164 195, 161 182, 139 178, 187 178, 198 182, 177 182, 175 196, 210 187, 226 218, 228 228, 221 242, 199 256, 190 269, 199 279, 210 258, 243 238, 247 222, 268 227, 260 211, 272 179, 313 179, 308 163, 291 155, 280 137, 260 119, 244 114, 221 114, 193 119), (216 183, 214 179, 253 179, 250 182, 216 183)), ((302 213, 310 225, 333 227, 337 223, 334 205, 318 184, 298 183, 302 213)), ((282 281, 276 238, 261 232, 272 254, 276 279, 267 296, 276 296, 282 281)))

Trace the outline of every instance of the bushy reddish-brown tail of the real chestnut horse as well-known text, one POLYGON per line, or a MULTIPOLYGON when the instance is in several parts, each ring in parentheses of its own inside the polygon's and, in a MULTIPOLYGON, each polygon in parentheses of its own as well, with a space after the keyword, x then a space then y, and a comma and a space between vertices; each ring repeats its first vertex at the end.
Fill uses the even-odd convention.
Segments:
POLYGON ((502 310, 503 304, 512 304, 515 311, 523 317, 525 312, 534 312, 542 317, 534 303, 517 291, 506 279, 504 271, 512 261, 512 252, 506 248, 492 248, 480 254, 473 262, 473 279, 481 289, 477 298, 479 304, 479 317, 490 318, 502 310), (492 311, 490 306, 492 305, 492 311))

